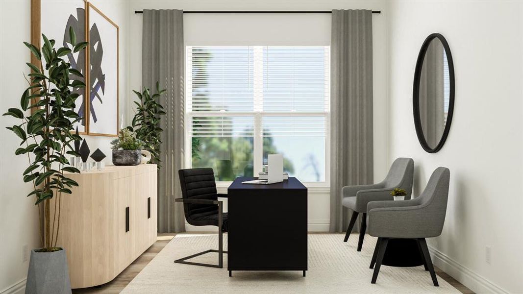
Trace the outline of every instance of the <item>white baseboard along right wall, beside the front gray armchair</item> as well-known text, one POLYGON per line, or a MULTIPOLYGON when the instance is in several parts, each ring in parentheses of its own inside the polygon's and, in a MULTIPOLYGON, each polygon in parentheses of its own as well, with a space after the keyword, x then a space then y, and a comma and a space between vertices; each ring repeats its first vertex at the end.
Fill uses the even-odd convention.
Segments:
POLYGON ((493 282, 487 280, 483 276, 473 272, 469 268, 460 265, 446 254, 438 251, 433 246, 428 247, 430 253, 432 253, 431 258, 434 265, 439 267, 449 276, 453 277, 475 293, 509 294, 508 291, 505 291, 501 287, 495 285, 493 282))

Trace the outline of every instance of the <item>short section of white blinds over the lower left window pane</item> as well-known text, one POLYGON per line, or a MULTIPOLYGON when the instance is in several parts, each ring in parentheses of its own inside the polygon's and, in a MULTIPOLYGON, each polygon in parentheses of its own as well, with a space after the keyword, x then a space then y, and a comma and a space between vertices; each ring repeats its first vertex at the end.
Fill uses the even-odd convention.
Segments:
POLYGON ((192 137, 252 137, 254 134, 253 117, 192 117, 192 137))

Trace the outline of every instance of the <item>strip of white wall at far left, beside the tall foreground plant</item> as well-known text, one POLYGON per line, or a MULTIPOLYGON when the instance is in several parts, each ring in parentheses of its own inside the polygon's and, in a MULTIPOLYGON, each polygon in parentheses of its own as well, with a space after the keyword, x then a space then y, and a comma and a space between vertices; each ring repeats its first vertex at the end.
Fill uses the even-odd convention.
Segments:
MULTIPOLYGON (((30 52, 23 41, 29 40, 29 0, 0 1, 0 112, 20 107, 21 93, 27 88, 24 74, 30 52), (16 28, 16 29, 14 29, 16 28)), ((39 245, 38 210, 32 190, 22 180, 27 159, 14 155, 20 140, 5 129, 18 120, 0 117, 0 292, 13 286, 23 287, 29 261, 22 262, 22 246, 39 245), (19 283, 20 282, 20 283, 19 283)))

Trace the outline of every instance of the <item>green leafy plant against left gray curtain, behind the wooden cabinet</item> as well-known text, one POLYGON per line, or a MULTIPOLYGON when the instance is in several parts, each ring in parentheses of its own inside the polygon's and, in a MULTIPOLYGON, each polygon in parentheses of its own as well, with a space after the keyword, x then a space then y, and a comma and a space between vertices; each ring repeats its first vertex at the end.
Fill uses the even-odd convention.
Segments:
POLYGON ((160 89, 160 83, 156 82, 156 93, 151 96, 148 88, 143 88, 143 92, 133 92, 138 96, 139 101, 133 101, 137 107, 137 113, 132 119, 132 129, 136 138, 145 142, 144 150, 151 152, 151 163, 157 164, 160 168, 160 134, 163 129, 160 127, 160 117, 165 115, 163 106, 160 104, 160 97, 167 92, 160 89))

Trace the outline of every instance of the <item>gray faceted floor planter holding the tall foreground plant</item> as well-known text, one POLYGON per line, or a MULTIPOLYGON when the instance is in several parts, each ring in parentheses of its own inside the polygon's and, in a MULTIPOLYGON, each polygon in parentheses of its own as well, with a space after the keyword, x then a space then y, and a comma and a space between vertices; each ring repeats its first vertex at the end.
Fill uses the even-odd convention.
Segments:
POLYGON ((65 250, 31 251, 27 272, 26 294, 71 293, 65 250))

